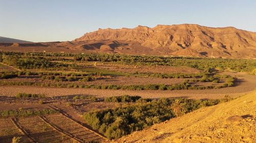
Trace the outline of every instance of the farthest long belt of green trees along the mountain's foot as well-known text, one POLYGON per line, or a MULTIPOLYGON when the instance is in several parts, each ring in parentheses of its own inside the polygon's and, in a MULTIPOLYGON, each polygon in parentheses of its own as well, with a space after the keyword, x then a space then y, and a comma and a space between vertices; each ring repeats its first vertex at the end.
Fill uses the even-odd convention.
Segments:
POLYGON ((0 62, 21 69, 44 69, 44 68, 77 68, 76 64, 60 64, 51 61, 63 62, 112 62, 126 65, 163 65, 185 66, 201 70, 215 68, 218 70, 231 70, 237 72, 253 72, 256 69, 256 60, 248 59, 211 59, 189 58, 153 55, 127 55, 127 54, 98 54, 98 53, 14 53, 0 52, 0 62))

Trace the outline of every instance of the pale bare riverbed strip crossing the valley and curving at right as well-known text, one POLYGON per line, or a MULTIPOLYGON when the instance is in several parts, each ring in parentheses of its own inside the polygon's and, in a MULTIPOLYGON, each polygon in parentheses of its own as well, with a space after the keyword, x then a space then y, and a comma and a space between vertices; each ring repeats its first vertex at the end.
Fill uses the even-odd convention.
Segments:
POLYGON ((73 88, 44 88, 29 86, 2 86, 0 87, 1 96, 15 96, 17 93, 46 94, 48 96, 67 96, 67 95, 93 95, 97 97, 120 96, 120 95, 139 95, 143 98, 161 97, 187 97, 187 98, 223 98, 225 95, 238 97, 256 88, 256 76, 242 73, 223 73, 235 76, 238 81, 234 87, 214 89, 214 90, 175 90, 175 91, 126 91, 126 90, 96 90, 96 89, 73 89, 73 88))

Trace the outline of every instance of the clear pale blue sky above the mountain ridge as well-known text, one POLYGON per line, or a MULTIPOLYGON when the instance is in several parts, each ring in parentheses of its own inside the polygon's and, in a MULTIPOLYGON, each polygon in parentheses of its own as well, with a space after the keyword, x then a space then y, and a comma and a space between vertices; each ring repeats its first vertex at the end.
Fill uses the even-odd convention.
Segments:
POLYGON ((256 32, 255 0, 0 0, 0 36, 71 41, 98 28, 196 23, 256 32))

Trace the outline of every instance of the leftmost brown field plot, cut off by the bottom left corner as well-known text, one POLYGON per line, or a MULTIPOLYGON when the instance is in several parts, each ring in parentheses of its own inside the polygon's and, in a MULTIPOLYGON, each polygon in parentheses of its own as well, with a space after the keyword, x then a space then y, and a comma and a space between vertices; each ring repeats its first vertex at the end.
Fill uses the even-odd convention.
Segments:
POLYGON ((28 138, 12 123, 11 118, 0 119, 0 142, 11 142, 14 136, 21 136, 23 140, 28 141, 28 138))

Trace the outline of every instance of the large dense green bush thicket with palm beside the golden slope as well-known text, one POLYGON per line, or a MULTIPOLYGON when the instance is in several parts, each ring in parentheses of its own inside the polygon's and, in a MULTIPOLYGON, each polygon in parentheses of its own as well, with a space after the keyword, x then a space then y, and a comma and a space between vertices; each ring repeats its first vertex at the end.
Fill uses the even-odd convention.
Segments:
POLYGON ((230 99, 161 98, 149 102, 137 100, 134 105, 126 107, 90 111, 84 113, 83 118, 93 129, 112 139, 142 130, 200 107, 216 105, 228 100, 230 99))

